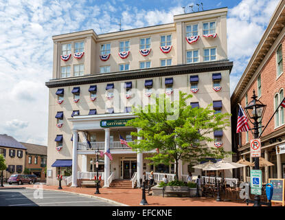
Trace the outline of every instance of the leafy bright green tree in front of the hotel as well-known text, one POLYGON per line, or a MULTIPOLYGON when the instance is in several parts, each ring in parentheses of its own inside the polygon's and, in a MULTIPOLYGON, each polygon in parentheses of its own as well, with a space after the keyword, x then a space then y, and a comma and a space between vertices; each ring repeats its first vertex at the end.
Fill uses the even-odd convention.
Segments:
POLYGON ((226 129, 230 125, 229 113, 216 113, 212 104, 204 108, 192 108, 187 100, 191 94, 179 91, 179 100, 174 102, 166 95, 155 98, 155 104, 146 107, 134 107, 137 118, 128 121, 126 126, 141 128, 131 135, 142 137, 139 142, 130 143, 133 150, 141 153, 157 149, 153 153, 150 164, 176 164, 176 179, 178 179, 178 162, 189 162, 191 165, 203 161, 206 157, 224 158, 231 152, 223 147, 209 147, 213 142, 212 133, 215 130, 226 129))

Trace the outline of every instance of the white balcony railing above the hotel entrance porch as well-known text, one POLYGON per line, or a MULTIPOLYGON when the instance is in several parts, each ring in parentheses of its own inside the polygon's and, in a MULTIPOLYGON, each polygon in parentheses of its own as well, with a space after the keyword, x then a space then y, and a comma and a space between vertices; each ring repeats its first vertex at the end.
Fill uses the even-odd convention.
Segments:
MULTIPOLYGON (((91 148, 89 148, 89 144, 87 142, 78 142, 77 149, 79 151, 82 150, 95 150, 95 149, 104 149, 105 142, 90 142, 91 148)), ((128 143, 135 143, 135 142, 128 142, 128 143)), ((110 142, 110 149, 130 149, 128 146, 121 144, 121 142, 110 142)))

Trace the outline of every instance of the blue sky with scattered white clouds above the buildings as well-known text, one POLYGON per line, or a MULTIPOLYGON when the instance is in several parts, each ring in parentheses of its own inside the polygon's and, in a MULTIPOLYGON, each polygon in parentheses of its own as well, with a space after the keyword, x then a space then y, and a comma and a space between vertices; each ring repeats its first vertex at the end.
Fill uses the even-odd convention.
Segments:
MULTIPOLYGON (((279 0, 204 0, 203 9, 228 7, 228 56, 234 62, 231 92, 258 45, 279 0)), ((0 133, 47 144, 52 36, 93 29, 97 34, 172 23, 201 1, 0 0, 0 133)), ((200 8, 201 9, 201 8, 200 8)))

